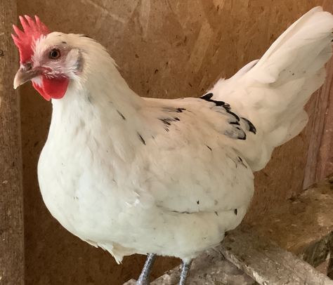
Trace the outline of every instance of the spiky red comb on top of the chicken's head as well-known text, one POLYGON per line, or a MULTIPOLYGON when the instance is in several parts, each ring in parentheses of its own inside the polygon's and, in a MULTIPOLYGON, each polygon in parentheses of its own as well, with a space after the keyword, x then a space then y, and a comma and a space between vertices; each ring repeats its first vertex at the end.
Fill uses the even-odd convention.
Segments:
POLYGON ((34 16, 34 20, 27 15, 24 18, 20 16, 20 22, 23 31, 13 25, 16 34, 11 34, 11 37, 13 37, 15 45, 18 47, 20 62, 22 63, 31 60, 34 42, 42 35, 46 36, 50 31, 37 16, 34 16))

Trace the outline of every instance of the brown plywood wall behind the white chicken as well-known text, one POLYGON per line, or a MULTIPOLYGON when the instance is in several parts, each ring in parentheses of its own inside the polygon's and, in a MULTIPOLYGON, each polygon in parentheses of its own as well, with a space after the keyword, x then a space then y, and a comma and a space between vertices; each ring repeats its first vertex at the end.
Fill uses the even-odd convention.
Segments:
MULTIPOLYGON (((115 58, 139 95, 198 96, 219 77, 230 77, 259 58, 294 20, 322 0, 31 0, 18 13, 39 15, 53 30, 87 34, 115 58)), ((123 265, 66 232, 46 210, 37 185, 37 159, 51 105, 21 89, 27 285, 122 284, 137 277, 143 258, 123 265)), ((302 190, 309 129, 278 148, 256 174, 249 221, 302 190)), ((175 264, 161 259, 155 276, 175 264)))

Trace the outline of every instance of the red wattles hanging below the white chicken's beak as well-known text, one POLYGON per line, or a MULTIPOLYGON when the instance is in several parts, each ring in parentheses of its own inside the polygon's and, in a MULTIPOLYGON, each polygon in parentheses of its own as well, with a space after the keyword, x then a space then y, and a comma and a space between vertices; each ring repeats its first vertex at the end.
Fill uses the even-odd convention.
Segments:
POLYGON ((34 88, 41 94, 45 100, 61 99, 67 91, 70 80, 67 77, 46 78, 43 77, 41 86, 32 82, 34 88))

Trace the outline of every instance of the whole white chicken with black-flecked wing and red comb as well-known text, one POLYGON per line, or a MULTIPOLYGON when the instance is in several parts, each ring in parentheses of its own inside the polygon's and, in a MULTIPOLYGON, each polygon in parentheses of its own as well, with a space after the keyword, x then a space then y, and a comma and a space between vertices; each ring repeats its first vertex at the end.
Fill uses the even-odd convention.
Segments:
POLYGON ((155 255, 181 258, 185 284, 190 260, 240 224, 253 172, 306 125, 332 54, 333 16, 317 7, 202 97, 141 98, 98 42, 49 32, 37 16, 20 22, 14 88, 31 80, 53 105, 38 164, 44 202, 118 263, 149 253, 138 284, 155 255))

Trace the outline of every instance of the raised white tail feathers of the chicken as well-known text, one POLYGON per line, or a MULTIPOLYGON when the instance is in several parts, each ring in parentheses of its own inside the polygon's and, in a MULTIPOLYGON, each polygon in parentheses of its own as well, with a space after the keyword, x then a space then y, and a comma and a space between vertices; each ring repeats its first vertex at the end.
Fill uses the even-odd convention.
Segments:
POLYGON ((332 55, 332 31, 333 15, 315 7, 294 22, 256 65, 250 62, 210 91, 259 130, 249 138, 254 145, 251 153, 239 147, 253 170, 263 168, 274 147, 294 138, 306 125, 303 107, 325 81, 323 67, 332 55))

